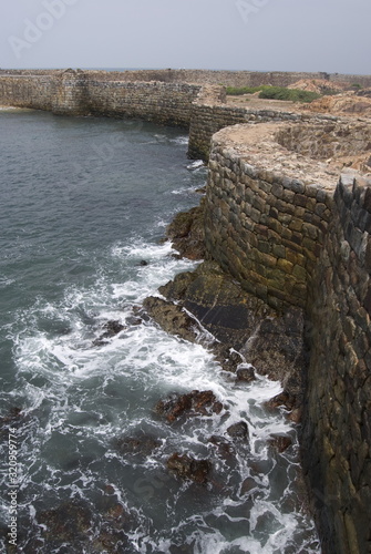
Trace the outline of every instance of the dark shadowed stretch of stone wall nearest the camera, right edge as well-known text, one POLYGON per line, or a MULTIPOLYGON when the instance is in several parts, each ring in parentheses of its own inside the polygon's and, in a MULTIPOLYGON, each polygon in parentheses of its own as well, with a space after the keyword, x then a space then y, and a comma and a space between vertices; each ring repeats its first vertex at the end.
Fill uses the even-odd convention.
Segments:
POLYGON ((302 445, 323 552, 371 552, 371 182, 342 176, 309 283, 302 445))

